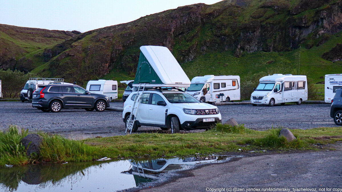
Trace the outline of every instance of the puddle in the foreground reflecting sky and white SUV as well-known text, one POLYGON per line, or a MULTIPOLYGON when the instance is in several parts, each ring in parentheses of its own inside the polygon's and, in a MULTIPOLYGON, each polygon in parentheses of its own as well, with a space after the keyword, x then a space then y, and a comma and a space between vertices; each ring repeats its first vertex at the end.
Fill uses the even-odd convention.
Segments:
POLYGON ((0 191, 119 191, 153 186, 198 164, 229 161, 232 156, 39 164, 0 169, 0 191))

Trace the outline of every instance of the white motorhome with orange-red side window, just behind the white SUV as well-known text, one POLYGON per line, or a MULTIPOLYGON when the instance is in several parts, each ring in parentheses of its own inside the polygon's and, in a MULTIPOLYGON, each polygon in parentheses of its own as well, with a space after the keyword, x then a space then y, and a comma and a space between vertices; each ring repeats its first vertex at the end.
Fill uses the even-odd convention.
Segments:
POLYGON ((194 77, 186 93, 202 102, 240 100, 240 76, 194 77))

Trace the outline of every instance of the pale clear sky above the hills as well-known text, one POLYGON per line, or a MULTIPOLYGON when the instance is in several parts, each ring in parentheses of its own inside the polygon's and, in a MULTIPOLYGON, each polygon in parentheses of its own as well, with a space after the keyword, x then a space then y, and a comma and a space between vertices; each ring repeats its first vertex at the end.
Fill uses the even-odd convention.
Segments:
POLYGON ((0 0, 0 24, 50 30, 93 29, 195 3, 220 0, 0 0))

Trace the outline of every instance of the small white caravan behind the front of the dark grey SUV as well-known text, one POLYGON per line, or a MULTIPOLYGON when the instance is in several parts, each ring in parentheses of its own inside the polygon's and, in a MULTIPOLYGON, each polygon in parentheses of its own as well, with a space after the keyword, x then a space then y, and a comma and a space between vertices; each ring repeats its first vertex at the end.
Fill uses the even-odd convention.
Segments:
POLYGON ((113 80, 100 79, 88 81, 87 91, 90 93, 102 94, 110 98, 110 101, 118 98, 118 82, 113 80))

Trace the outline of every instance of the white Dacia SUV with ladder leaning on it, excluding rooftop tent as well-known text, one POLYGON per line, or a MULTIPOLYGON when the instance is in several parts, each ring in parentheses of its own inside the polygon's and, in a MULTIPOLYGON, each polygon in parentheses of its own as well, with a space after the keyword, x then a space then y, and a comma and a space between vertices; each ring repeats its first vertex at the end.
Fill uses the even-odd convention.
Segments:
MULTIPOLYGON (((131 93, 123 105, 122 119, 126 127, 136 94, 131 93)), ((182 91, 146 90, 141 97, 132 132, 144 125, 160 127, 162 130, 171 128, 172 133, 177 133, 180 129, 210 129, 221 122, 221 114, 216 106, 201 103, 182 91)))

